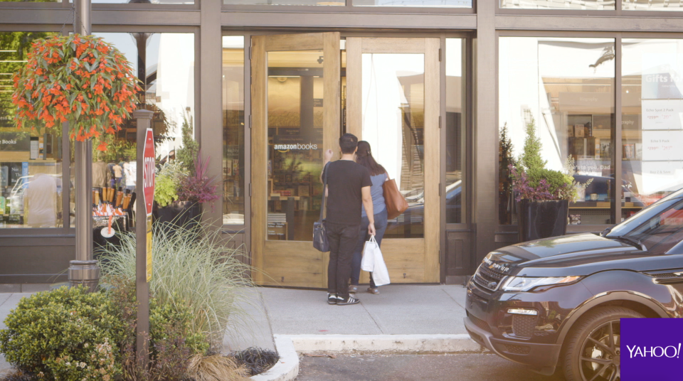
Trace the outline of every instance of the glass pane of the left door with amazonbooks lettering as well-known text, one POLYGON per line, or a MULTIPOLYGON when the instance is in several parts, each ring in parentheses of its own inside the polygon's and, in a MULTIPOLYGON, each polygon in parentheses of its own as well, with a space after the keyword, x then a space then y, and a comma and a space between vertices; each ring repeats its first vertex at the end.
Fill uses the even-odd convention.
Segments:
POLYGON ((268 53, 268 240, 311 241, 322 200, 322 50, 268 53))

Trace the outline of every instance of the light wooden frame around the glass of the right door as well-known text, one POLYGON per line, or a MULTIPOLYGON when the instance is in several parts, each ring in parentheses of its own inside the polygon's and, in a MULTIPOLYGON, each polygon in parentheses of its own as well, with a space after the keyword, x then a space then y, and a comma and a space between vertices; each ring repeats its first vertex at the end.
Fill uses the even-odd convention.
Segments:
MULTIPOLYGON (((423 255, 422 283, 441 280, 441 39, 430 37, 349 37, 346 38, 346 132, 362 139, 362 63, 363 53, 416 53, 425 57, 424 183, 425 209, 423 238, 383 240, 387 252, 406 252, 408 257, 423 255), (421 251, 421 253, 420 253, 421 251)), ((391 261, 386 256, 387 261, 391 261)), ((390 266, 391 267, 391 266, 390 266)))

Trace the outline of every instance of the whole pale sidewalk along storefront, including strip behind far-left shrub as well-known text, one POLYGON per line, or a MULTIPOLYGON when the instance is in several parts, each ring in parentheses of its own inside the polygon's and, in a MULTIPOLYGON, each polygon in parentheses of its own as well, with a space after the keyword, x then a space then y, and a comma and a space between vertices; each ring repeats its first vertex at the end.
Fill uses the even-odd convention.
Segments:
MULTIPOLYGON (((360 286, 365 290, 367 286, 360 286)), ((359 292, 354 306, 329 306, 325 291, 250 289, 245 313, 250 328, 236 327, 223 343, 226 351, 250 346, 274 348, 272 335, 416 335, 467 333, 465 288, 459 285, 403 285, 380 287, 381 294, 359 292)), ((0 294, 0 329, 4 318, 23 296, 0 294)), ((9 365, 0 355, 0 370, 9 365)))

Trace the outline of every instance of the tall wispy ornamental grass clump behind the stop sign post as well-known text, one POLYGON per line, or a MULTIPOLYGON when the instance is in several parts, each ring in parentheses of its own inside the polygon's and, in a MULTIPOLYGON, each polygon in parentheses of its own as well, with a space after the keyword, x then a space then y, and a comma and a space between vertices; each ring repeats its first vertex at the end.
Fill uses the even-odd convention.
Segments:
MULTIPOLYGON (((251 286, 251 267, 239 261, 241 249, 226 247, 220 230, 205 231, 201 226, 183 227, 155 224, 154 267, 150 294, 159 304, 186 306, 189 340, 202 336, 220 345, 228 329, 244 333, 248 328, 243 311, 247 297, 243 287, 251 286)), ((109 245, 100 263, 105 277, 135 279, 135 235, 120 235, 121 245, 109 245)), ((152 337, 154 338, 154 336, 152 337)), ((193 344, 194 345, 194 344, 193 344)))

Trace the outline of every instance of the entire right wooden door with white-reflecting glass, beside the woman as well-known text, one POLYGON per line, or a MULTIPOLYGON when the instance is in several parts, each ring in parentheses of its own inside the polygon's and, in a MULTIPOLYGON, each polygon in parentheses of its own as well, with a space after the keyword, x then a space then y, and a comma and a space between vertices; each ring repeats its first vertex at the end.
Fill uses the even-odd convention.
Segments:
POLYGON ((410 203, 381 245, 392 283, 440 280, 439 48, 438 38, 346 38, 346 132, 369 141, 410 203))

